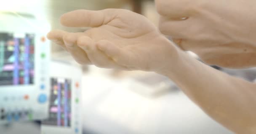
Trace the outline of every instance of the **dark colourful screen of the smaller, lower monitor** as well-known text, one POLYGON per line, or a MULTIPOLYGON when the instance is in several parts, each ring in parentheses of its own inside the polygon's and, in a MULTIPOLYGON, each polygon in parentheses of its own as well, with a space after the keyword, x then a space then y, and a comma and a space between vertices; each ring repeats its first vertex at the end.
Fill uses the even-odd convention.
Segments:
POLYGON ((51 78, 49 119, 44 125, 71 126, 71 80, 51 78))

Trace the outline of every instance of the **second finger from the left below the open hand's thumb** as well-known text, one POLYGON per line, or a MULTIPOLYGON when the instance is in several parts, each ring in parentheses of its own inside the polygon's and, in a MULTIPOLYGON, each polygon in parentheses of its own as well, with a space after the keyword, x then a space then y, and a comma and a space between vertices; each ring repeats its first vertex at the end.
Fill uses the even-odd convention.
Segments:
POLYGON ((81 33, 66 33, 63 36, 64 44, 68 52, 79 64, 91 64, 86 52, 77 46, 77 38, 81 36, 81 33))

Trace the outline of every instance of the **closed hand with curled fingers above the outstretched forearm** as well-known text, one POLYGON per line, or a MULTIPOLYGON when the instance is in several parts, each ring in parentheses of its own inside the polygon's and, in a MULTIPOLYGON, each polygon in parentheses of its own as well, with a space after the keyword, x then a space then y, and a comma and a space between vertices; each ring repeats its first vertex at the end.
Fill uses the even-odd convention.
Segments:
POLYGON ((159 28, 208 64, 256 66, 255 0, 155 0, 159 28))

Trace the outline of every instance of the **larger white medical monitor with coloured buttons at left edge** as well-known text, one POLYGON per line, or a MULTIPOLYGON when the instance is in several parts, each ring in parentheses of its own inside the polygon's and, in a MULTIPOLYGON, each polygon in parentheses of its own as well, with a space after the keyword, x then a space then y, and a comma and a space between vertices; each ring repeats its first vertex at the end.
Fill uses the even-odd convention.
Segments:
POLYGON ((0 16, 0 124, 47 119, 50 27, 33 15, 0 16))

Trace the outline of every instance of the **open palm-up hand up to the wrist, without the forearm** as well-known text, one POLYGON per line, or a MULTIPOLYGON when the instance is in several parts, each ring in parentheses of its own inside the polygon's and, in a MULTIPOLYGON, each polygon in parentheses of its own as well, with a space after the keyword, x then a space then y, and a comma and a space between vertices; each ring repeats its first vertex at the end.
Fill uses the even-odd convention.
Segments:
POLYGON ((68 27, 92 27, 82 33, 53 30, 48 39, 67 49, 80 64, 121 70, 157 71, 177 48, 147 18, 122 9, 75 10, 61 16, 68 27))

